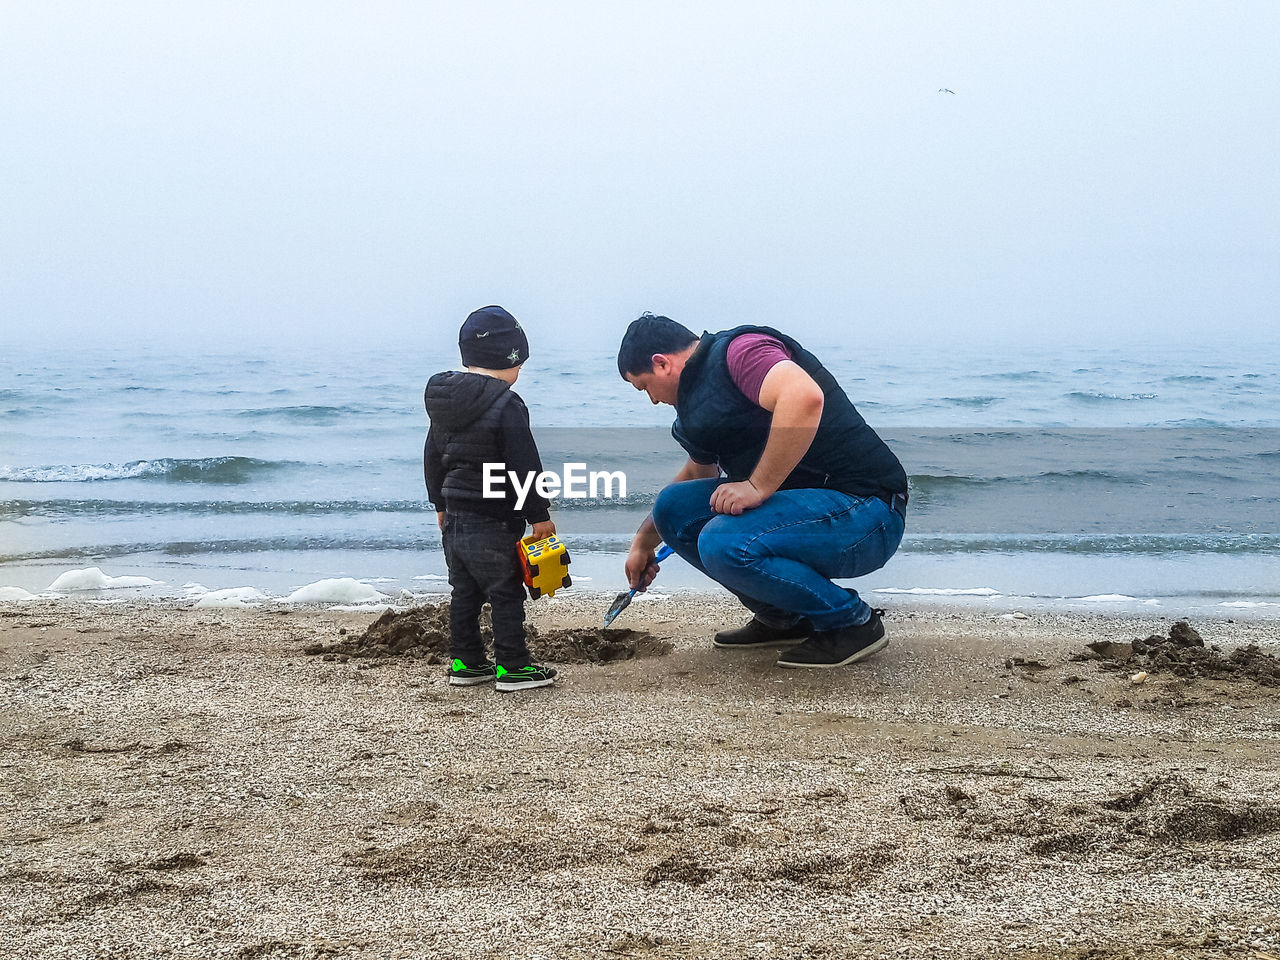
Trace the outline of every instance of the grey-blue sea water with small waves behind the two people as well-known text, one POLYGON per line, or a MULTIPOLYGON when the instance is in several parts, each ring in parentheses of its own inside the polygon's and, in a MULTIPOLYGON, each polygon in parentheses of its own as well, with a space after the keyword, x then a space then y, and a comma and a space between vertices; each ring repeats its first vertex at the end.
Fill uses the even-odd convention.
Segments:
MULTIPOLYGON (((1280 613, 1275 351, 806 346, 910 475, 902 548, 856 582, 874 603, 1280 613)), ((0 588, 97 567, 99 588, 146 577, 129 591, 150 594, 444 590, 421 396, 456 367, 396 344, 10 344, 0 588)), ((545 467, 626 474, 625 498, 553 512, 579 585, 621 589, 631 534, 684 462, 671 408, 607 349, 535 344, 516 389, 545 467)), ((714 585, 672 559, 657 589, 714 585)))

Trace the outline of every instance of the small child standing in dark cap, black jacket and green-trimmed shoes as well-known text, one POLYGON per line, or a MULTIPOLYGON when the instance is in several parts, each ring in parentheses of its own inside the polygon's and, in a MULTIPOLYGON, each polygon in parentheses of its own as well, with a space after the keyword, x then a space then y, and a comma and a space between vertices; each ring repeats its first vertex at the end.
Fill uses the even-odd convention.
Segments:
POLYGON ((481 307, 458 334, 465 372, 436 374, 426 384, 430 428, 422 456, 426 489, 444 540, 453 588, 449 603, 449 682, 458 686, 497 681, 498 690, 527 690, 556 681, 556 671, 534 663, 525 644, 525 579, 517 544, 525 522, 534 536, 556 532, 548 502, 529 489, 521 509, 511 484, 502 498, 485 497, 484 465, 499 475, 541 472, 529 428, 529 408, 511 389, 529 358, 529 339, 511 314, 481 307), (480 639, 480 608, 493 611, 489 660, 480 639))

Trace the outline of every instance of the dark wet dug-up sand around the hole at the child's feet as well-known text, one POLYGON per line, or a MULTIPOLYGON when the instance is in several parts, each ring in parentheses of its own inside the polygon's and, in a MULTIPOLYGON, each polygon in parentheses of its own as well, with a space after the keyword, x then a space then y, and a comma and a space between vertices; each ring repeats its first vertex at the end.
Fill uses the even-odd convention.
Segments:
MULTIPOLYGON (((535 659, 550 663, 613 663, 637 657, 663 657, 671 643, 643 630, 589 628, 540 631, 526 625, 529 649, 535 659)), ((489 609, 480 617, 480 636, 493 643, 489 609)), ((387 611, 360 636, 343 634, 335 643, 311 644, 305 653, 346 663, 355 658, 407 657, 428 663, 449 662, 449 604, 387 611)))

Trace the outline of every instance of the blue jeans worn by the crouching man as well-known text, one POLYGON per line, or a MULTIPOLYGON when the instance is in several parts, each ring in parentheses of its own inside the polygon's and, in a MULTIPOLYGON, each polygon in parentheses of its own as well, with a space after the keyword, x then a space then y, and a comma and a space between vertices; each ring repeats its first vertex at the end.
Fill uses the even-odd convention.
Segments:
POLYGON ((710 508, 722 483, 686 480, 658 494, 653 522, 676 553, 769 626, 804 617, 815 630, 840 630, 868 621, 870 607, 831 581, 883 567, 902 541, 899 513, 876 497, 803 489, 778 490, 735 517, 710 508))

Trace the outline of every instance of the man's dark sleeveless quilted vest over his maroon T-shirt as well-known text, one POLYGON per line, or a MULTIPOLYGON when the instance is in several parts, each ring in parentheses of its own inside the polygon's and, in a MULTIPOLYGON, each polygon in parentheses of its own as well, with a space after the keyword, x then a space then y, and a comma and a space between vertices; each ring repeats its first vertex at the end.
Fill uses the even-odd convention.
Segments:
POLYGON ((906 493, 902 465, 867 425, 836 378, 809 351, 768 326, 705 333, 686 361, 672 435, 694 460, 714 457, 730 480, 746 480, 764 452, 772 413, 749 401, 728 372, 728 344, 744 333, 782 340, 823 393, 818 433, 781 489, 827 486, 854 497, 881 498, 906 493))

